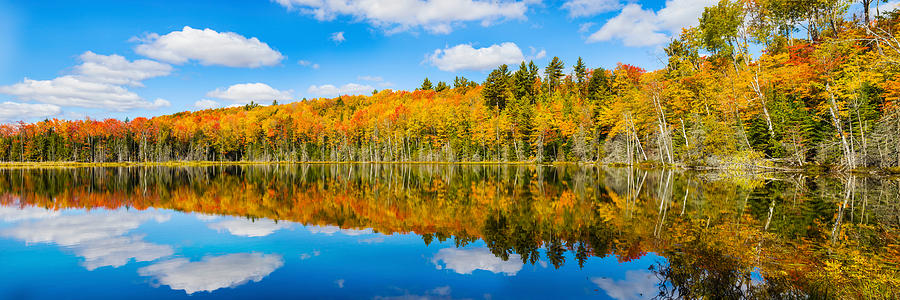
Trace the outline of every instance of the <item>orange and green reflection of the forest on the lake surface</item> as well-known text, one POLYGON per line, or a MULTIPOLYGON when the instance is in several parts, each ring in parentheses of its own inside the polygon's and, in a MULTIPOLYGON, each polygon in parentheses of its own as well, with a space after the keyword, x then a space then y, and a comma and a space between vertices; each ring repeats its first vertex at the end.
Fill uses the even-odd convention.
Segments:
POLYGON ((543 253, 557 268, 567 252, 579 266, 590 257, 628 261, 655 252, 668 260, 655 268, 668 288, 663 296, 688 298, 896 287, 889 277, 898 273, 885 270, 900 259, 898 191, 900 180, 887 178, 576 166, 0 171, 6 205, 158 207, 415 232, 425 244, 481 239, 501 259, 518 254, 533 264, 543 253), (817 271, 829 266, 838 271, 817 271), (752 270, 764 280, 751 280, 752 270))

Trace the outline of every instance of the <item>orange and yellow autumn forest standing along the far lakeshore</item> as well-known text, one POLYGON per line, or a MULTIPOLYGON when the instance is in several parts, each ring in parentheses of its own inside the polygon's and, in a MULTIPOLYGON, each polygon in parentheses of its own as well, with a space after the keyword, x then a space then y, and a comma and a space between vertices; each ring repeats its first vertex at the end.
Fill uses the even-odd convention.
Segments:
POLYGON ((482 83, 425 79, 415 91, 0 125, 0 160, 897 170, 900 14, 850 15, 847 5, 723 0, 652 71, 554 57, 499 66, 482 83))

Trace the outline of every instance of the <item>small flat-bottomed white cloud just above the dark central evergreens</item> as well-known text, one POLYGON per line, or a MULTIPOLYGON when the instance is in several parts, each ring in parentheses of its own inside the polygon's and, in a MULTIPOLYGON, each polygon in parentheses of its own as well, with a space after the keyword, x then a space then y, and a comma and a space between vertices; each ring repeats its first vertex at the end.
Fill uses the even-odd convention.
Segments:
POLYGON ((517 64, 525 56, 515 43, 506 42, 485 48, 473 48, 460 44, 446 49, 434 50, 428 60, 443 71, 488 70, 502 64, 517 64))

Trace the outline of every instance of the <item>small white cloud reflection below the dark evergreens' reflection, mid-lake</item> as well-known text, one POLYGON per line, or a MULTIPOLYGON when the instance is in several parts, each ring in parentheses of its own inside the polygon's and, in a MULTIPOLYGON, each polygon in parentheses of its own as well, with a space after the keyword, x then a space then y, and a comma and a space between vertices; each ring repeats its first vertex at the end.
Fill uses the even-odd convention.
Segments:
POLYGON ((512 254, 509 256, 509 260, 504 261, 487 248, 444 248, 438 250, 431 262, 439 270, 446 268, 459 274, 472 274, 472 271, 475 270, 485 270, 512 276, 522 270, 521 257, 518 254, 512 254), (444 266, 441 266, 440 262, 443 262, 444 266))

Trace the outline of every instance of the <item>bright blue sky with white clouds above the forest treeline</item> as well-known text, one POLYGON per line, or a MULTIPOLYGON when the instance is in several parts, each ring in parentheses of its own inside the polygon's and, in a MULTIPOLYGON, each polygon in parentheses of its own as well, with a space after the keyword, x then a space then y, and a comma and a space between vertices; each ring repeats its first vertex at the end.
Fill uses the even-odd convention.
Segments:
POLYGON ((559 56, 661 66, 711 0, 0 0, 0 122, 207 107, 482 81, 559 56))

